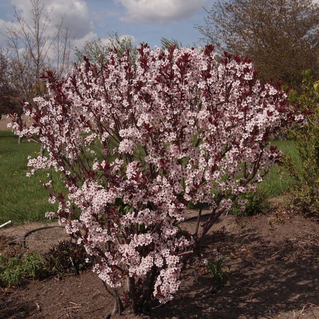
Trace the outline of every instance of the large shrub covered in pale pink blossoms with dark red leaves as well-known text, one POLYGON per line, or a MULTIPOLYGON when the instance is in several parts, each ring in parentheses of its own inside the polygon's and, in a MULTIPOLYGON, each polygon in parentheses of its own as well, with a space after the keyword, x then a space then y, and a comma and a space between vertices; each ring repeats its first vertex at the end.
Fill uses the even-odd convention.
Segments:
POLYGON ((11 115, 13 130, 48 152, 29 159, 30 174, 63 175, 65 194, 43 185, 67 233, 94 256, 113 313, 123 300, 137 312, 173 298, 193 248, 279 163, 271 139, 303 121, 287 90, 256 80, 251 60, 225 53, 218 63, 213 48, 142 45, 135 68, 116 50, 99 65, 85 58, 66 79, 43 76, 49 94, 25 106, 30 126, 11 115), (195 233, 182 235, 175 225, 190 202, 211 214, 203 222, 199 209, 195 233))

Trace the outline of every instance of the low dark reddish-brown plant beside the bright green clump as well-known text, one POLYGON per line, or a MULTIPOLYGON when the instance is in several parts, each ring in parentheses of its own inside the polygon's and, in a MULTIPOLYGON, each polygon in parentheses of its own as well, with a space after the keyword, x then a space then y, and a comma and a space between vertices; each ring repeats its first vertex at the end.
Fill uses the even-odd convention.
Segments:
POLYGON ((59 241, 56 246, 50 248, 46 256, 50 271, 58 276, 78 276, 88 265, 86 258, 83 244, 77 244, 72 239, 59 241))

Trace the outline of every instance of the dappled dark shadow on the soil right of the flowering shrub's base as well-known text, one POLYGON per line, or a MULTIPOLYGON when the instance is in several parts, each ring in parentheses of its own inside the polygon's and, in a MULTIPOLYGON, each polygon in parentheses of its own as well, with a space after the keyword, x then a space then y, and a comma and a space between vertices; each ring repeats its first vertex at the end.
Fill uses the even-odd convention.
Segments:
MULTIPOLYGON (((189 319, 257 319, 278 318, 281 314, 280 318, 294 318, 293 311, 295 318, 319 317, 319 308, 308 308, 319 304, 318 254, 305 252, 308 256, 300 256, 294 241, 285 240, 269 247, 269 242, 263 240, 250 232, 229 236, 223 245, 229 247, 230 243, 236 243, 237 246, 232 247, 237 251, 237 256, 231 258, 232 286, 227 283, 218 293, 211 294, 212 279, 203 272, 202 276, 198 274, 199 283, 196 283, 190 272, 181 278, 180 291, 173 301, 155 308, 151 317, 182 318, 184 314, 189 319), (251 242, 250 247, 247 242, 251 242)), ((210 238, 206 244, 211 244, 210 238)))

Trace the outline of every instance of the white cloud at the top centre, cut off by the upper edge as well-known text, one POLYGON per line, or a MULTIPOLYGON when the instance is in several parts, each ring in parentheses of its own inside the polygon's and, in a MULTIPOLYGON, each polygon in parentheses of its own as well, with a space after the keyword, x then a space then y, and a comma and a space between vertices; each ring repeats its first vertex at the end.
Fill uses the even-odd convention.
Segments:
POLYGON ((115 0, 126 9, 124 22, 164 24, 180 21, 201 10, 206 0, 115 0))

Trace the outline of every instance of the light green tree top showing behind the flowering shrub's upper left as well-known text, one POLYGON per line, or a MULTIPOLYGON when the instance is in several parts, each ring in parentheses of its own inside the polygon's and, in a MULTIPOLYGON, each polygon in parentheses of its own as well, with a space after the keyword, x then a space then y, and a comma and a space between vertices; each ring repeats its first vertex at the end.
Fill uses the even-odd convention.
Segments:
POLYGON ((109 48, 116 48, 120 55, 123 55, 127 49, 130 51, 130 60, 135 61, 137 57, 136 46, 132 42, 130 36, 120 38, 117 32, 108 33, 108 43, 103 43, 101 38, 96 40, 85 41, 83 48, 75 48, 75 60, 83 61, 83 56, 86 56, 90 61, 98 61, 100 54, 107 55, 109 48))

